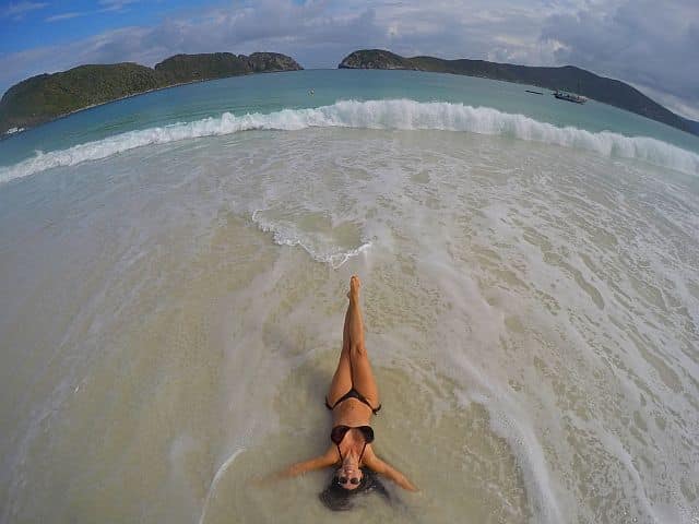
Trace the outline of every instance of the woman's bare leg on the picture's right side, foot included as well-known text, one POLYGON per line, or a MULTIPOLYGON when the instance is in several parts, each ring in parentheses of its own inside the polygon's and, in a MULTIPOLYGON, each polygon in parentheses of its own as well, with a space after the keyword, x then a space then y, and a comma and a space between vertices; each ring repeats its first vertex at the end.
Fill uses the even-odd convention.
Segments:
POLYGON ((372 407, 379 405, 379 389, 374 379, 369 356, 364 345, 364 321, 359 308, 359 277, 350 279, 350 306, 347 307, 347 327, 350 335, 350 361, 352 385, 362 393, 372 407))

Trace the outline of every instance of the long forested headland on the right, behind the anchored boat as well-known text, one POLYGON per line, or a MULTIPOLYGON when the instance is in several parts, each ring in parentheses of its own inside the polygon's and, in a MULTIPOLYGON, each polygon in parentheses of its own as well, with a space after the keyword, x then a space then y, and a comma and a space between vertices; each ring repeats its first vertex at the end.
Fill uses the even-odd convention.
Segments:
POLYGON ((674 128, 699 134, 699 123, 661 106, 637 88, 614 79, 599 76, 573 66, 540 68, 488 62, 485 60, 445 60, 435 57, 405 58, 382 49, 363 49, 347 55, 340 69, 407 69, 436 73, 465 74, 536 85, 547 90, 567 90, 597 102, 636 112, 674 128))

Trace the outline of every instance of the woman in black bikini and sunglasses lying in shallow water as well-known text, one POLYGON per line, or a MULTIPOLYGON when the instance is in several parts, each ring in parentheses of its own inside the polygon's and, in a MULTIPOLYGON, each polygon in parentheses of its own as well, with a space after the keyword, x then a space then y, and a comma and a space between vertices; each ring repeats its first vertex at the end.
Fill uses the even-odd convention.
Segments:
POLYGON ((359 284, 358 276, 350 279, 342 353, 325 397, 325 406, 332 410, 332 445, 322 455, 294 464, 279 474, 292 477, 312 469, 335 467, 331 485, 320 493, 321 500, 332 510, 348 509, 350 497, 363 491, 376 490, 388 498, 375 473, 404 489, 417 491, 405 475, 379 458, 371 446, 374 429, 369 422, 381 405, 364 345, 359 284))

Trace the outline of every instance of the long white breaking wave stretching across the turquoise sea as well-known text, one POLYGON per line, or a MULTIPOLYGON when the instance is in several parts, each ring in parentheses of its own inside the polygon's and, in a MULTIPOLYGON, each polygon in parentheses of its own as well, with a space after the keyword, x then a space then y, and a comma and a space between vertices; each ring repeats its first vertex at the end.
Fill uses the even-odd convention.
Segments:
POLYGON ((309 127, 367 129, 435 129, 467 131, 545 142, 593 151, 609 157, 648 162, 689 175, 699 175, 699 155, 647 136, 559 128, 523 115, 511 115, 487 107, 446 102, 419 103, 410 99, 341 100, 310 109, 284 109, 268 115, 235 116, 224 112, 188 123, 130 131, 107 139, 74 145, 62 151, 37 152, 32 158, 0 168, 0 182, 22 178, 45 169, 73 166, 106 158, 120 152, 151 144, 165 144, 201 136, 216 136, 246 130, 299 130, 309 127))

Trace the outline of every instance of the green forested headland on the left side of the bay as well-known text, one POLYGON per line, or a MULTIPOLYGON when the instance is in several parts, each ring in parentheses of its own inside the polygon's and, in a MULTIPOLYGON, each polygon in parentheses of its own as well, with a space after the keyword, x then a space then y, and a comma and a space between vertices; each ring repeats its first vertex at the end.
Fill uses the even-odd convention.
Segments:
POLYGON ((79 66, 60 73, 32 76, 10 87, 0 99, 0 135, 86 107, 173 85, 301 69, 293 58, 277 52, 175 55, 155 68, 132 62, 79 66))

